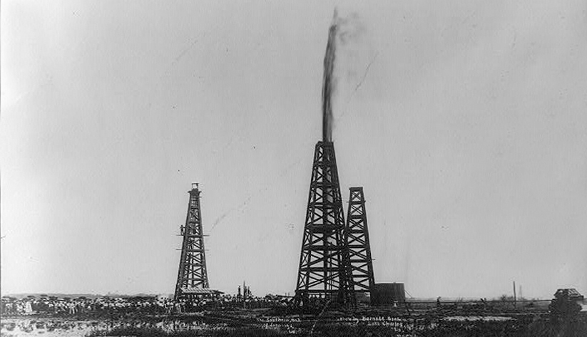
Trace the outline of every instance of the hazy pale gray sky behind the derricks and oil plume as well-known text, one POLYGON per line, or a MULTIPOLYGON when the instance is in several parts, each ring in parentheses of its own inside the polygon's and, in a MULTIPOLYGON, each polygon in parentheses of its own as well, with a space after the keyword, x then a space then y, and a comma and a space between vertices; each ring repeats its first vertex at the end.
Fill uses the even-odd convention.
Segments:
MULTIPOLYGON (((587 3, 558 2, 339 4, 376 281, 587 292, 587 3)), ((2 1, 2 294, 173 292, 191 182, 210 286, 293 291, 335 6, 2 1)))

